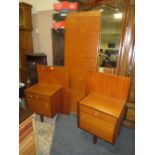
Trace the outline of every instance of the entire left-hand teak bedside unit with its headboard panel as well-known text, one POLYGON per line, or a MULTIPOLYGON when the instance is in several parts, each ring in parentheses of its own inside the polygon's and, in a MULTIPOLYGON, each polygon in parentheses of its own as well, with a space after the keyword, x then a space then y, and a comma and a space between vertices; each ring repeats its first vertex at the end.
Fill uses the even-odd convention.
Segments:
POLYGON ((53 117, 57 113, 69 113, 68 70, 65 67, 38 65, 39 82, 25 90, 30 111, 53 117))

